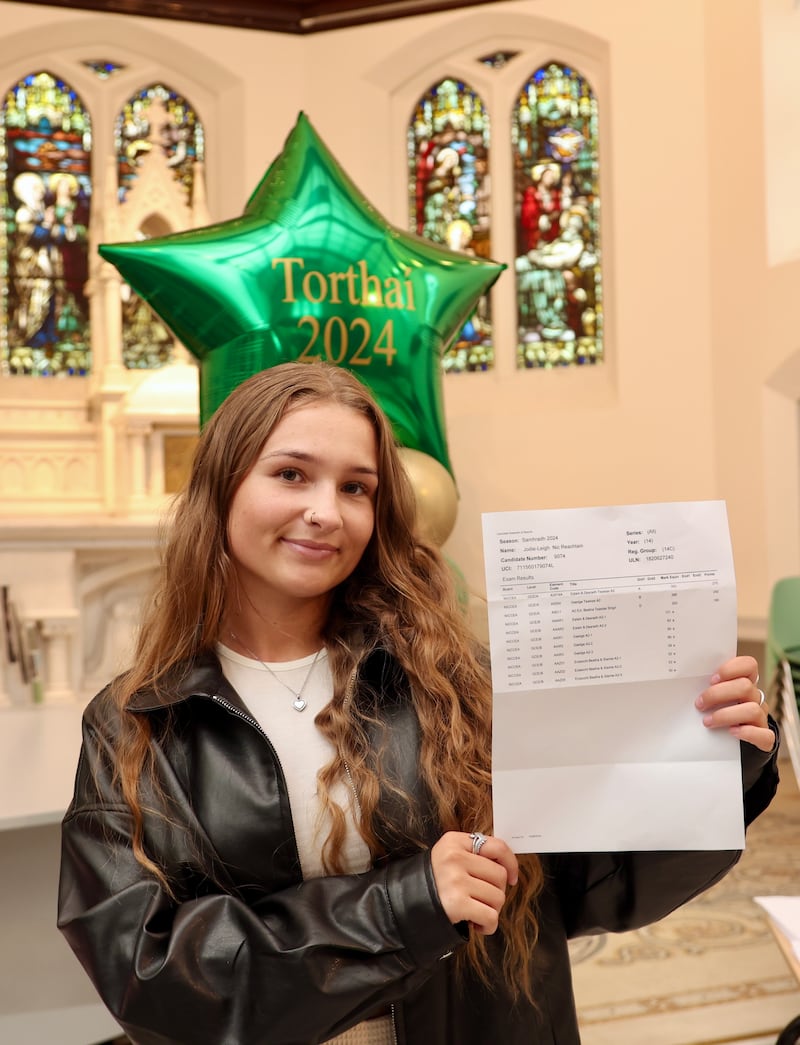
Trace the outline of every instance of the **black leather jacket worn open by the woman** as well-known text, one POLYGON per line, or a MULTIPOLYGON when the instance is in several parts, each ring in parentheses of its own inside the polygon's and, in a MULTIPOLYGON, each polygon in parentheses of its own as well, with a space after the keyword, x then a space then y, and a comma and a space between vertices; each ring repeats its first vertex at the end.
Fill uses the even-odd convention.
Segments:
MULTIPOLYGON (((424 804, 404 681, 383 653, 369 658, 356 698, 366 676, 392 729, 386 771, 424 804)), ((538 1007, 514 1005, 499 933, 491 989, 456 975, 466 930, 444 913, 428 851, 394 846, 364 874, 302 880, 279 760, 213 654, 168 706, 141 694, 133 711, 152 720, 163 788, 147 803, 159 813, 145 813, 146 849, 175 897, 133 857, 111 773, 117 713, 100 695, 85 714, 64 819, 58 926, 137 1045, 311 1045, 390 1005, 398 1045, 577 1045, 567 938, 660 919, 739 855, 543 858, 538 1007)), ((774 794, 776 757, 743 750, 749 821, 774 794)), ((389 796, 381 813, 393 844, 389 796)))

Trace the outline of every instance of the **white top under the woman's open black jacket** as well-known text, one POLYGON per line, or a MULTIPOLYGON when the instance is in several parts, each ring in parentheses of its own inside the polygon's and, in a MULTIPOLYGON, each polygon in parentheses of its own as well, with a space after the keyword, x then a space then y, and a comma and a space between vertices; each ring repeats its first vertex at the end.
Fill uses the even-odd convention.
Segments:
MULTIPOLYGON (((328 817, 323 818, 316 773, 335 753, 331 742, 314 723, 317 713, 333 693, 327 650, 322 650, 313 670, 313 653, 300 660, 269 663, 269 669, 278 678, 274 678, 260 660, 241 656, 221 643, 217 644, 216 652, 226 678, 269 738, 280 759, 289 792, 303 878, 319 878, 324 874, 322 846, 328 837, 330 823, 328 817), (306 707, 298 712, 289 690, 299 693, 301 688, 306 707)), ((349 784, 343 782, 334 789, 332 797, 343 807, 347 817, 343 851, 345 870, 367 870, 370 867, 370 851, 355 826, 357 811, 353 791, 349 784)))

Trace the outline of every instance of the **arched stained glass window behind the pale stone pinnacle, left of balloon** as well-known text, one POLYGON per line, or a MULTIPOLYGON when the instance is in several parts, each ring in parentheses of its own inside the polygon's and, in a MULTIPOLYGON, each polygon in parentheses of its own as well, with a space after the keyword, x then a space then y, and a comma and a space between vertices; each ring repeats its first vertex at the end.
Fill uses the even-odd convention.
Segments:
MULTIPOLYGON (((159 148, 175 180, 192 202, 194 165, 205 149, 203 124, 189 102, 163 84, 138 91, 125 102, 114 127, 119 199, 125 200, 144 158, 159 148)), ((143 238, 174 231, 158 218, 139 229, 143 238)), ((122 362, 128 370, 154 370, 169 363, 174 338, 149 305, 128 284, 122 287, 122 362)))

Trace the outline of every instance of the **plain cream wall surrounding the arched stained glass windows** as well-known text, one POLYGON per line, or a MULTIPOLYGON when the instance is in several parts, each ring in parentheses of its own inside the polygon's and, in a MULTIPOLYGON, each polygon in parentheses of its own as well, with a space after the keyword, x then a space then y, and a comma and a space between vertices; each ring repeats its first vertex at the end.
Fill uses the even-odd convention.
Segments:
MULTIPOLYGON (((774 577, 800 571, 797 480, 787 504, 764 443, 796 428, 796 396, 774 385, 797 351, 790 309, 800 262, 786 259, 800 257, 800 207, 776 181, 781 143, 766 98, 780 87, 774 70, 761 73, 772 34, 796 38, 799 20, 792 0, 509 0, 300 39, 0 2, 0 71, 4 82, 27 71, 32 32, 58 42, 53 71, 66 52, 127 57, 131 70, 108 85, 111 113, 145 67, 174 68, 207 123, 215 218, 241 211, 303 109, 359 188, 403 224, 403 129, 437 76, 489 92, 497 144, 533 63, 574 62, 601 100, 608 363, 515 371, 513 280, 501 277, 504 359, 493 373, 445 381, 461 491, 446 551, 480 593, 481 511, 724 497, 743 629, 755 634, 774 577), (475 59, 496 48, 523 57, 493 74, 475 59), (789 227, 768 210, 768 185, 784 214, 794 206, 789 227), (782 258, 773 269, 768 228, 782 258)), ((508 171, 496 148, 498 193, 508 171)), ((495 257, 512 252, 511 224, 498 219, 495 257)))

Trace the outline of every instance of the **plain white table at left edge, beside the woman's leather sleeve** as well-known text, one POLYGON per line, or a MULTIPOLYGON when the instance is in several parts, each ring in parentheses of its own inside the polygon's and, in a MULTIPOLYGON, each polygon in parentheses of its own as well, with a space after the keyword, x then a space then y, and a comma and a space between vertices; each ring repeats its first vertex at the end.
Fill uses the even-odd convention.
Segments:
POLYGON ((0 1042, 94 1045, 119 1035, 55 927, 61 820, 77 704, 0 707, 0 1042))

